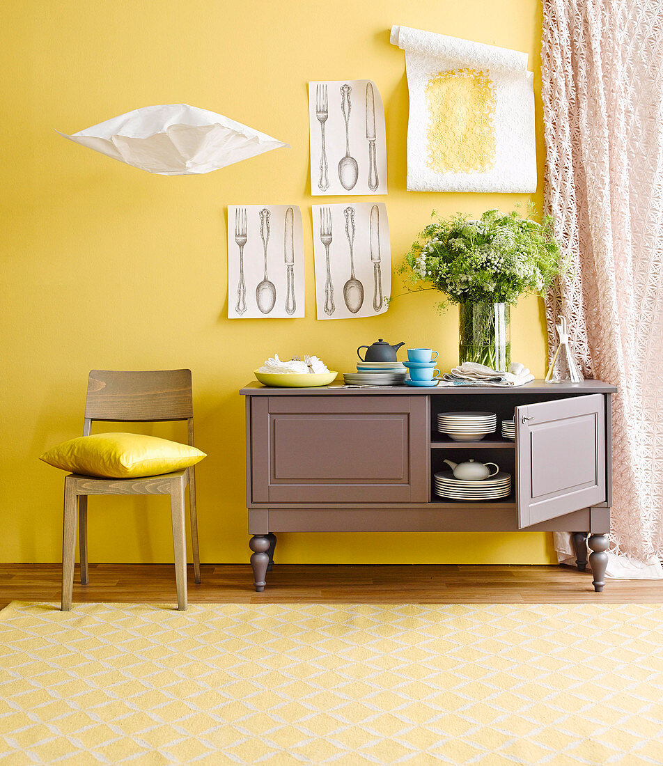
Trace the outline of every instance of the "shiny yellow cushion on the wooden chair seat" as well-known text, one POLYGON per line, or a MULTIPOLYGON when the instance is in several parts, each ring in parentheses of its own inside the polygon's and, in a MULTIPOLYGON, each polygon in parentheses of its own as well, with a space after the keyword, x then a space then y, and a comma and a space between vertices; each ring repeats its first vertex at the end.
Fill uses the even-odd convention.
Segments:
POLYGON ((154 436, 94 434, 64 441, 44 452, 39 460, 85 476, 129 479, 194 466, 203 457, 205 453, 195 447, 154 436))

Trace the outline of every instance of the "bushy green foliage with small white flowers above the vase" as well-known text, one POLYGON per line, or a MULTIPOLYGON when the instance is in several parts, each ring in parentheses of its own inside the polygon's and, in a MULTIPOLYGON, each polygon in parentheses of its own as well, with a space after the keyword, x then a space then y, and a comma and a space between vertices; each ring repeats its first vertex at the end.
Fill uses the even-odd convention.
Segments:
POLYGON ((532 214, 531 207, 525 218, 488 210, 476 221, 433 211, 398 271, 418 284, 409 290, 427 283, 452 303, 516 303, 522 293, 544 293, 562 271, 560 246, 553 218, 538 223, 532 214))

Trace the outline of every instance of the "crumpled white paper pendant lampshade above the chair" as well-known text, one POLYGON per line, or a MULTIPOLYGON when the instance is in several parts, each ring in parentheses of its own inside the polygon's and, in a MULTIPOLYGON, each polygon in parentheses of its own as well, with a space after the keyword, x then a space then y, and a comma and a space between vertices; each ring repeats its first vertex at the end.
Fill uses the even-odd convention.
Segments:
POLYGON ((159 175, 208 173, 272 149, 290 149, 234 119, 185 103, 143 106, 72 136, 60 135, 159 175))

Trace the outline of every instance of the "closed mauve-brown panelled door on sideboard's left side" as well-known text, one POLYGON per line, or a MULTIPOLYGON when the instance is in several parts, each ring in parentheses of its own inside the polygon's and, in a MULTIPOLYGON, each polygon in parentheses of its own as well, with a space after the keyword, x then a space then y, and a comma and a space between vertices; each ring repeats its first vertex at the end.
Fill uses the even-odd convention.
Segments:
POLYGON ((427 407, 408 396, 262 398, 252 502, 426 502, 427 407))

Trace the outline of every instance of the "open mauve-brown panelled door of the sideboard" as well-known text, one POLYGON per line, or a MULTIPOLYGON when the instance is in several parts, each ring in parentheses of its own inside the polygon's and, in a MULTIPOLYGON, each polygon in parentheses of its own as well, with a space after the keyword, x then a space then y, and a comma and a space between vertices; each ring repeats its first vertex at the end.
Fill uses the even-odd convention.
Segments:
POLYGON ((515 408, 520 529, 606 499, 602 394, 515 408))

